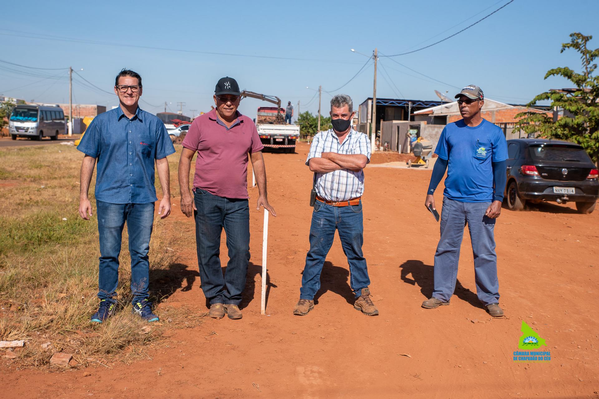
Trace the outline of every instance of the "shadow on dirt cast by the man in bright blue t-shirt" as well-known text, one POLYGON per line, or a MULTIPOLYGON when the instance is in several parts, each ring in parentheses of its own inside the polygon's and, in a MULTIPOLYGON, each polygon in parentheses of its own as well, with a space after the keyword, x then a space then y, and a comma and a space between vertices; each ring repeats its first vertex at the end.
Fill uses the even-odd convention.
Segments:
MULTIPOLYGON (((434 288, 432 265, 424 264, 421 260, 407 260, 401 264, 400 268, 401 279, 404 282, 407 284, 418 285, 418 287, 420 287, 420 293, 422 293, 425 299, 429 299, 432 296, 434 288), (409 275, 412 275, 412 278, 409 278, 409 275)), ((482 303, 480 303, 479 298, 476 296, 476 293, 465 288, 457 279, 453 294, 459 299, 467 301, 474 307, 485 309, 482 303)))

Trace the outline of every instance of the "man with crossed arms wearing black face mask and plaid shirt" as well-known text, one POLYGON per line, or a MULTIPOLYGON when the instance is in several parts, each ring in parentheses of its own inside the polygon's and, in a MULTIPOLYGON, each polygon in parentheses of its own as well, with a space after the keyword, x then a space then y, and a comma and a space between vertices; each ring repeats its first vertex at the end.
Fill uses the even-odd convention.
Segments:
POLYGON ((310 226, 310 251, 305 258, 294 315, 307 315, 314 307, 314 296, 320 288, 320 272, 335 230, 339 232, 349 263, 350 287, 356 297, 353 307, 368 316, 379 314, 370 299, 370 278, 362 255, 362 169, 370 162, 370 141, 364 133, 352 129, 354 114, 349 96, 334 96, 331 99, 333 128, 317 133, 310 146, 306 165, 315 173, 316 202, 310 226))

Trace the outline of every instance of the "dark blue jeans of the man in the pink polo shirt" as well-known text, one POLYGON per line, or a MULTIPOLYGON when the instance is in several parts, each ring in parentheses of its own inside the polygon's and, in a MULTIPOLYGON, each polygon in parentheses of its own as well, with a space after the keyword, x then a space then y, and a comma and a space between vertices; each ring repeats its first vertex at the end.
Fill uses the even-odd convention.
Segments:
POLYGON ((213 303, 241 303, 250 261, 250 207, 247 199, 224 198, 196 188, 195 239, 204 296, 213 303), (229 262, 220 269, 220 234, 226 233, 229 262))

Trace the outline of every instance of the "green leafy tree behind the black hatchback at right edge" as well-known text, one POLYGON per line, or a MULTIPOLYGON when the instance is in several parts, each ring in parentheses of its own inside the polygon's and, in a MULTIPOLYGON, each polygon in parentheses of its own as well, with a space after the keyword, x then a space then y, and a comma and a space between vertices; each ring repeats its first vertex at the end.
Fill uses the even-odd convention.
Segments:
POLYGON ((562 43, 560 53, 567 49, 580 53, 582 73, 563 67, 549 69, 545 75, 545 79, 551 76, 564 77, 576 87, 573 90, 549 90, 527 104, 533 107, 539 101, 550 100, 552 107, 564 110, 564 115, 554 121, 547 114, 521 112, 516 115, 522 119, 516 123, 515 129, 527 133, 540 132, 544 138, 580 144, 593 162, 599 163, 599 77, 594 75, 597 69, 594 60, 599 56, 599 48, 589 50, 588 42, 592 37, 575 32, 570 34, 569 43, 562 43))

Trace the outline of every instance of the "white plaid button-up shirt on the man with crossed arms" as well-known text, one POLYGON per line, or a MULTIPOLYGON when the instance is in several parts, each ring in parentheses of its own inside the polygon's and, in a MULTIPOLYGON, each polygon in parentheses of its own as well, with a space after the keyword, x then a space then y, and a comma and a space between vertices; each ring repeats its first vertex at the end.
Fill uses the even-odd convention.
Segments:
MULTIPOLYGON (((310 153, 305 165, 310 159, 319 158, 322 153, 362 154, 370 162, 370 141, 364 133, 350 130, 349 134, 339 143, 339 138, 332 129, 319 132, 314 136, 310 145, 310 153)), ((329 201, 347 201, 364 194, 364 171, 353 172, 348 169, 334 170, 328 173, 316 173, 316 193, 329 201)))

